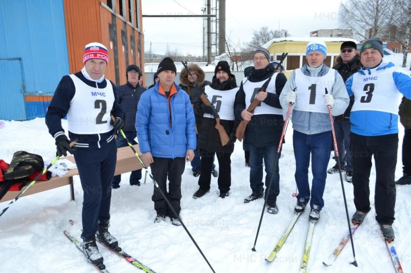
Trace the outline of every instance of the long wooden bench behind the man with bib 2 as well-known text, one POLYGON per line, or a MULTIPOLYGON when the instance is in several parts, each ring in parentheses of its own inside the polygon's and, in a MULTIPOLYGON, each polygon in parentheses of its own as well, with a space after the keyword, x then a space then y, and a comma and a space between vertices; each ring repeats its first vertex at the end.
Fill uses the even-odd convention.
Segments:
MULTIPOLYGON (((134 149, 137 151, 137 154, 141 154, 138 148, 138 144, 133 145, 134 149)), ((70 160, 73 163, 74 161, 73 156, 64 157, 65 159, 70 160)), ((140 161, 134 154, 133 150, 127 145, 123 148, 117 149, 117 163, 116 163, 116 171, 114 172, 115 175, 120 175, 124 173, 128 173, 135 170, 140 170, 143 168, 140 161)), ((73 176, 78 175, 79 171, 77 169, 68 170, 68 173, 65 176, 59 177, 55 176, 52 177, 50 180, 47 181, 37 181, 34 185, 32 185, 29 190, 22 196, 27 196, 30 194, 41 193, 44 191, 51 190, 53 188, 61 187, 70 185, 70 195, 71 200, 74 200, 74 185, 73 185, 73 176)), ((10 201, 13 200, 19 192, 7 192, 7 194, 0 200, 0 202, 10 201)))

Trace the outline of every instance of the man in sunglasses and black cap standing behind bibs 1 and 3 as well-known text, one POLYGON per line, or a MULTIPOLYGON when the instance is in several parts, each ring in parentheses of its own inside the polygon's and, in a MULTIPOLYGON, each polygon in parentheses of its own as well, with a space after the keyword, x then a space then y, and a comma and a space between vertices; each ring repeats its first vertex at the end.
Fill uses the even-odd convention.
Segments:
MULTIPOLYGON (((341 54, 335 61, 337 65, 333 69, 343 77, 344 82, 354 73, 361 69, 361 60, 357 53, 357 44, 353 41, 345 41, 341 44, 341 54)), ((340 157, 341 171, 346 172, 345 181, 352 180, 352 164, 350 152, 350 112, 354 97, 350 98, 347 110, 344 114, 334 117, 335 139, 337 140, 337 148, 340 157)), ((327 170, 327 173, 334 174, 339 172, 337 158, 335 158, 335 165, 327 170)))

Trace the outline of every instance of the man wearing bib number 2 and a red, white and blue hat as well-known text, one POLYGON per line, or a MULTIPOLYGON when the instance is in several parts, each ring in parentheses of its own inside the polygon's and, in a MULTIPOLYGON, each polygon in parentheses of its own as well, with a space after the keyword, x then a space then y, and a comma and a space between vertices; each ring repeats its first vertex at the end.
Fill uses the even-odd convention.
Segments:
POLYGON ((123 111, 117 99, 116 86, 104 78, 108 64, 107 48, 100 43, 86 45, 84 67, 66 75, 51 99, 46 114, 49 133, 55 138, 57 154, 74 155, 83 188, 83 252, 92 264, 103 262, 96 245, 99 240, 117 247, 117 239, 108 232, 111 182, 117 161, 114 132, 124 127, 123 111), (71 149, 61 119, 67 114, 68 136, 81 139, 71 149), (111 122, 111 115, 115 117, 111 122))

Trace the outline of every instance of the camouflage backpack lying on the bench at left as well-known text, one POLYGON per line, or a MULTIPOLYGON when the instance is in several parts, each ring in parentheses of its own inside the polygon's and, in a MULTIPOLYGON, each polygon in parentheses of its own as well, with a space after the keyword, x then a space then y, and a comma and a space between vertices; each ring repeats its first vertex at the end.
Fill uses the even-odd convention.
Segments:
POLYGON ((41 156, 25 151, 17 151, 13 154, 13 159, 4 173, 4 179, 14 180, 25 178, 43 169, 44 161, 41 156))

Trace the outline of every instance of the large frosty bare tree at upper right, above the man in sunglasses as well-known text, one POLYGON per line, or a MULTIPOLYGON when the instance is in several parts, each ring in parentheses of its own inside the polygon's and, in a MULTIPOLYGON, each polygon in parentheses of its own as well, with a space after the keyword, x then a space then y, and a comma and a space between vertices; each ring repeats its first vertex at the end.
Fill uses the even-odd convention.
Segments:
POLYGON ((339 22, 359 40, 370 36, 384 39, 393 22, 394 6, 393 0, 347 0, 340 4, 339 22))

